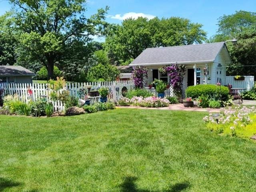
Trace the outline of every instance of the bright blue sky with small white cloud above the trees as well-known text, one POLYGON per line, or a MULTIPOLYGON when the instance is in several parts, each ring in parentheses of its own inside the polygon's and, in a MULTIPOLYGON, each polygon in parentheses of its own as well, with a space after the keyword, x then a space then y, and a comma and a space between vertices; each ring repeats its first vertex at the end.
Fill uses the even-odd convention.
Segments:
MULTIPOLYGON (((88 16, 106 5, 110 6, 106 20, 111 23, 121 23, 129 16, 179 16, 203 24, 208 37, 215 34, 220 16, 238 10, 256 12, 256 0, 88 0, 88 16)), ((10 8, 7 0, 0 0, 0 15, 10 8)))

